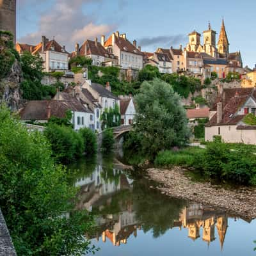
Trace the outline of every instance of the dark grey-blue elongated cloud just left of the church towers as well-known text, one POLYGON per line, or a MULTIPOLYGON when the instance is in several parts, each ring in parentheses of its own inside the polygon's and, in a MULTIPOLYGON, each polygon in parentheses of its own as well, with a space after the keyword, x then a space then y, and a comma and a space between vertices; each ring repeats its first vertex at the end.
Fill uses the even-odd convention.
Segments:
POLYGON ((186 35, 144 37, 138 42, 141 47, 170 47, 186 42, 186 35))

